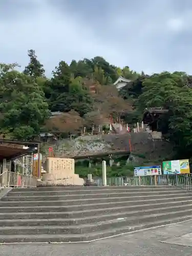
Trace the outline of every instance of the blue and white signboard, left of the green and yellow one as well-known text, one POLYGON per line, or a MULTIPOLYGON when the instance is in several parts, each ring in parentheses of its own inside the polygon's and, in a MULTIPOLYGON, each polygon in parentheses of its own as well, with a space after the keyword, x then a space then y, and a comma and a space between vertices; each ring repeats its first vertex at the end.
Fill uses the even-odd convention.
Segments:
POLYGON ((134 176, 161 175, 161 165, 139 166, 134 168, 134 176))

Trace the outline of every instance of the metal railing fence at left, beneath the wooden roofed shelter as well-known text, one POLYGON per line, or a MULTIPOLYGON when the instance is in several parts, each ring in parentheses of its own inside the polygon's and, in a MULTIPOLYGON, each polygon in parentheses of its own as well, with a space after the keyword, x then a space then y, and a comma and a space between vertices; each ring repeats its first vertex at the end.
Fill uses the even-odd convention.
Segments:
POLYGON ((0 187, 36 187, 37 178, 6 170, 0 175, 0 187))

